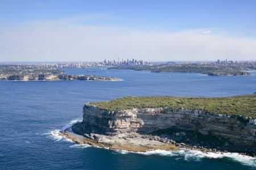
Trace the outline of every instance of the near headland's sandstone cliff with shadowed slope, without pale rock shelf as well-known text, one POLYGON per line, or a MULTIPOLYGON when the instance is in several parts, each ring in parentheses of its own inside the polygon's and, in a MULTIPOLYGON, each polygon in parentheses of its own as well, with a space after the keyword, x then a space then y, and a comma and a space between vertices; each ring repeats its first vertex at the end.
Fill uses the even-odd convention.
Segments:
POLYGON ((72 130, 85 137, 136 134, 150 141, 256 154, 256 122, 251 117, 170 107, 109 111, 84 105, 83 112, 83 121, 72 130))

